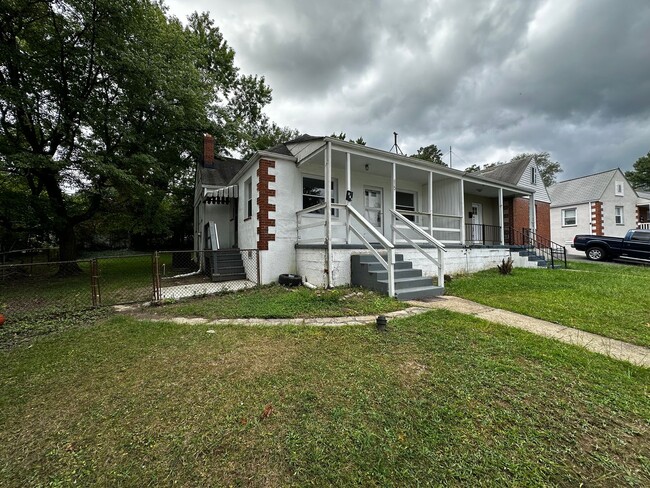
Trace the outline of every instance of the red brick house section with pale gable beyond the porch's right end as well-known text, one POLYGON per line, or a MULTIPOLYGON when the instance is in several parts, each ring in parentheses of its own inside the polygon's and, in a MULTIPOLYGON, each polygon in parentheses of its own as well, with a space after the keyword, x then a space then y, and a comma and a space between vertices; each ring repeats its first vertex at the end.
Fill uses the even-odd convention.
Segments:
POLYGON ((532 227, 540 237, 544 239, 551 238, 551 199, 533 156, 500 164, 483 170, 479 174, 533 191, 535 201, 533 225, 530 225, 530 208, 528 205, 530 197, 528 196, 504 200, 504 224, 517 233, 524 232, 532 227))

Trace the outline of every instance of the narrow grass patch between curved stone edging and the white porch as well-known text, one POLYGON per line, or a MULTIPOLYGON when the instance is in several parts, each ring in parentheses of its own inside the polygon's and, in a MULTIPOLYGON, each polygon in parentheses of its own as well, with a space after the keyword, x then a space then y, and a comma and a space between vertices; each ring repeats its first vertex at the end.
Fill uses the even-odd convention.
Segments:
MULTIPOLYGON (((363 288, 310 290, 271 285, 192 298, 149 309, 167 317, 309 318, 374 315, 406 308, 404 302, 363 288)), ((148 312, 149 312, 148 311, 148 312)))

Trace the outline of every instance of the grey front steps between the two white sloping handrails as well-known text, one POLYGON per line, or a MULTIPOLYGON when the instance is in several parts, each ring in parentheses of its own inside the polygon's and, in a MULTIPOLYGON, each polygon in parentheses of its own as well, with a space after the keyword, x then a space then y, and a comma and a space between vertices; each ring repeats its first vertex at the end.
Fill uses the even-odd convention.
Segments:
MULTIPOLYGON (((388 294, 388 271, 372 254, 352 255, 351 281, 379 293, 388 294)), ((422 270, 414 269, 401 254, 395 255, 395 297, 398 300, 437 297, 444 293, 442 286, 434 286, 432 278, 422 276, 422 270)))

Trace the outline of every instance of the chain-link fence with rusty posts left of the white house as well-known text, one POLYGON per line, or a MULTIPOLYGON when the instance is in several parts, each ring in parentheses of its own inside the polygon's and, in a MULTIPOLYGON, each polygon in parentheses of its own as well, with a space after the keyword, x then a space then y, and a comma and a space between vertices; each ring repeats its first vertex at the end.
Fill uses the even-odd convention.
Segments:
POLYGON ((256 249, 166 251, 78 261, 0 265, 0 314, 7 320, 158 302, 260 284, 256 249))

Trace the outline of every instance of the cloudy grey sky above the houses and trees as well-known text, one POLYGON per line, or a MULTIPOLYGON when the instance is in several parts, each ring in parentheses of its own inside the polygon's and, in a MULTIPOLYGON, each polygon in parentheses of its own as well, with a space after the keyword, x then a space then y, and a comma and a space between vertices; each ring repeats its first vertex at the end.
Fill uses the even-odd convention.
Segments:
POLYGON ((209 11, 267 113, 453 167, 548 151, 560 180, 650 151, 648 0, 167 0, 209 11), (448 160, 448 155, 445 156, 448 160))

